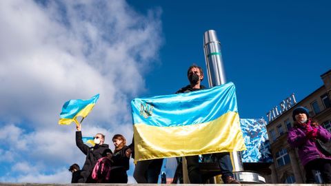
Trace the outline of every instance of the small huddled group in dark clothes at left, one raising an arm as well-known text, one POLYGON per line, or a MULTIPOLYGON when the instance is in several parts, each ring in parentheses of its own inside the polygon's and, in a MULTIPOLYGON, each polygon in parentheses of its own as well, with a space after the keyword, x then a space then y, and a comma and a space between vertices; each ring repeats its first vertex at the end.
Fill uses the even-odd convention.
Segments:
POLYGON ((129 148, 126 138, 121 134, 112 137, 114 152, 104 142, 105 135, 98 133, 94 136, 95 145, 89 147, 83 143, 81 124, 77 125, 76 145, 86 155, 86 161, 82 169, 77 164, 70 166, 72 183, 128 183, 126 171, 129 169, 130 156, 126 155, 129 148))

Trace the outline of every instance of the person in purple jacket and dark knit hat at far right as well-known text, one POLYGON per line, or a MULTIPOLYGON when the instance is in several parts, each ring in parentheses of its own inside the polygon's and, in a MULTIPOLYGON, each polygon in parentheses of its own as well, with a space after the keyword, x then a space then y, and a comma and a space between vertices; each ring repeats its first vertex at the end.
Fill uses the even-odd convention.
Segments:
POLYGON ((299 158, 305 169, 306 183, 315 183, 313 171, 319 170, 324 183, 331 183, 331 156, 323 154, 316 140, 330 141, 331 134, 309 117, 305 107, 297 107, 292 112, 294 127, 288 131, 288 143, 297 147, 299 158))

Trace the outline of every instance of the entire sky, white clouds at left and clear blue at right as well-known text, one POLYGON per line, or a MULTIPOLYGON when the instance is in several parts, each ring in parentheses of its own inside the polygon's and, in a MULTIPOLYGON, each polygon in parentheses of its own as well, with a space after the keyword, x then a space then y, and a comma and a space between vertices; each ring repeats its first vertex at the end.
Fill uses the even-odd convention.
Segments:
POLYGON ((130 141, 130 101, 176 92, 192 63, 205 69, 206 30, 221 41, 241 118, 265 117, 293 92, 300 101, 331 67, 330 8, 330 1, 0 1, 0 182, 70 182, 68 167, 84 156, 74 125, 57 125, 69 99, 100 94, 83 136, 130 141))

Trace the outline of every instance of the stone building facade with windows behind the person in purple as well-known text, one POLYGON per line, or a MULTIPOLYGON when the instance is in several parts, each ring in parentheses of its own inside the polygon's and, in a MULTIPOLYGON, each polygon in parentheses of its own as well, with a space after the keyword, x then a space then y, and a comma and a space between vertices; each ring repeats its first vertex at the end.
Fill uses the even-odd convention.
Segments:
MULTIPOLYGON (((267 131, 274 163, 270 166, 272 174, 268 176, 268 183, 305 183, 305 171, 298 151, 290 147, 287 141, 288 130, 293 127, 292 111, 295 107, 308 108, 310 117, 331 132, 331 70, 322 74, 321 79, 323 85, 319 89, 291 107, 286 107, 286 110, 281 114, 277 113, 277 116, 269 121, 267 131)), ((319 172, 316 175, 317 182, 321 183, 319 172)))

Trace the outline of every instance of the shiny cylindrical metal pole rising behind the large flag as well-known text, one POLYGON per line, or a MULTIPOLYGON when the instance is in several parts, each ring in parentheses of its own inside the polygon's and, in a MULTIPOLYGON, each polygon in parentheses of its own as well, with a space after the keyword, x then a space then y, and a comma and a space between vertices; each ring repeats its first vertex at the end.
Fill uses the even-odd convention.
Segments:
MULTIPOLYGON (((217 39, 215 30, 208 30, 203 37, 203 49, 205 52, 205 64, 207 66, 209 87, 226 83, 223 67, 221 43, 217 39)), ((243 171, 240 152, 231 152, 234 172, 243 171)))

